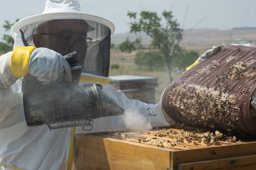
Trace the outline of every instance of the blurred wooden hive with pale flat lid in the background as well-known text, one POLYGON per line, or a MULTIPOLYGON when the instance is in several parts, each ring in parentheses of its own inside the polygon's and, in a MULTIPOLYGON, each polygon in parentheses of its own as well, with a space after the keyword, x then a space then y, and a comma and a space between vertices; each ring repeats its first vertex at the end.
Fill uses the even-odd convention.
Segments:
POLYGON ((109 76, 110 85, 123 92, 128 99, 136 99, 148 104, 155 104, 157 78, 145 76, 109 76))

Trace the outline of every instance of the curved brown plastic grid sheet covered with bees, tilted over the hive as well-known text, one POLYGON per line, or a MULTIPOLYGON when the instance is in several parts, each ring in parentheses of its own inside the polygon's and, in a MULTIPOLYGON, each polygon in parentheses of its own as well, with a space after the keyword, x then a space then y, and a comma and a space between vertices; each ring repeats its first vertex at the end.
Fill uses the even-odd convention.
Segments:
POLYGON ((255 80, 256 48, 226 46, 168 85, 162 111, 167 122, 255 136, 255 80))

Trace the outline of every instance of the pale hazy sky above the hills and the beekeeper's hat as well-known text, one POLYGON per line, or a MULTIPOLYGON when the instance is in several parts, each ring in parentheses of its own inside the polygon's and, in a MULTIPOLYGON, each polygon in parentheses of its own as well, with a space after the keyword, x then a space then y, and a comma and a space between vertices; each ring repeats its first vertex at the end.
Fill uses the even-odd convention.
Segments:
MULTIPOLYGON (((129 32, 127 11, 173 11, 183 29, 256 27, 256 0, 78 0, 81 12, 106 18, 116 29, 129 32), (187 15, 186 15, 187 12, 187 15)), ((45 0, 1 0, 0 38, 4 20, 14 22, 44 11, 45 0)))

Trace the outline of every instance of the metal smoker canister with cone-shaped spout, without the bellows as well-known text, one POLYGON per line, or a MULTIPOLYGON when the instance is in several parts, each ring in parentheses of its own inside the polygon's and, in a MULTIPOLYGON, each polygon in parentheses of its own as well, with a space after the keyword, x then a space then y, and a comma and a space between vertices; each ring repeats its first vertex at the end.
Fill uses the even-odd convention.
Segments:
POLYGON ((47 124, 49 127, 49 124, 66 122, 65 127, 69 127, 67 122, 124 114, 124 109, 95 84, 58 87, 23 93, 28 126, 47 124))

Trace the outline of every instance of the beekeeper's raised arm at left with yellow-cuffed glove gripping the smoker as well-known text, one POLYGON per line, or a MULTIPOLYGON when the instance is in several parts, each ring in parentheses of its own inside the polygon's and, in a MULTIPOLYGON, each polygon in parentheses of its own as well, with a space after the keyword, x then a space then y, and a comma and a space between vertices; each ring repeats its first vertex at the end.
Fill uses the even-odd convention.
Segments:
POLYGON ((27 74, 35 76, 43 85, 72 81, 68 62, 62 55, 48 48, 16 47, 0 57, 0 88, 7 89, 27 74))

